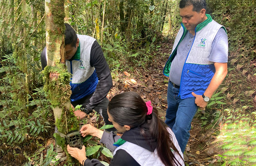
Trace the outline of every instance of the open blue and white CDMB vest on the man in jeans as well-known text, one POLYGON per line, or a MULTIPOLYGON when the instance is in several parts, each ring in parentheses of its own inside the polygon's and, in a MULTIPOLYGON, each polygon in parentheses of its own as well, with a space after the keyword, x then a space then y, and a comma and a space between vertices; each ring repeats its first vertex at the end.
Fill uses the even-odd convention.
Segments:
MULTIPOLYGON (((177 54, 179 43, 188 33, 183 24, 181 25, 182 27, 179 29, 175 39, 171 56, 163 69, 163 74, 166 76, 169 76, 171 62, 177 54)), ((182 69, 179 89, 181 99, 193 97, 192 92, 202 95, 209 86, 215 73, 214 64, 209 61, 209 57, 213 39, 220 28, 225 29, 224 26, 214 21, 210 15, 207 15, 207 19, 196 26, 195 37, 182 69)))

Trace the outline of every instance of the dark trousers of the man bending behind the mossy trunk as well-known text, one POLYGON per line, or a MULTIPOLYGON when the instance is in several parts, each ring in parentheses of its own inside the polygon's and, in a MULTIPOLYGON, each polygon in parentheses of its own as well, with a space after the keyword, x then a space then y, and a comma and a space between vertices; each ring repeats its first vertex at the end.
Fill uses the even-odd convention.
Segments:
MULTIPOLYGON (((86 105, 90 102, 90 98, 93 96, 93 93, 74 102, 71 102, 71 104, 76 107, 77 105, 86 105)), ((112 122, 110 122, 108 120, 108 115, 107 115, 107 106, 108 106, 109 100, 107 99, 107 97, 105 97, 96 107, 94 107, 94 110, 99 113, 103 119, 106 125, 108 124, 112 124, 112 122)), ((115 127, 110 128, 110 129, 106 129, 106 131, 110 132, 110 131, 116 131, 115 127)))

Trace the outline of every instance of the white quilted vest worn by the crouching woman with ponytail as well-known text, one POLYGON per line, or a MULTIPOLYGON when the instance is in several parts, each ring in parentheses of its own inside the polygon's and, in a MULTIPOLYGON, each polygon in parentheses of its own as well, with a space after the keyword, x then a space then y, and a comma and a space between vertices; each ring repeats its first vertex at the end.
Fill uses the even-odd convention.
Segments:
MULTIPOLYGON (((173 152, 174 156, 178 160, 178 162, 180 164, 182 164, 182 166, 183 166, 184 165, 183 154, 180 150, 178 141, 177 141, 174 133, 171 131, 171 129, 167 128, 167 130, 170 133, 170 135, 172 137, 172 142, 174 143, 174 146, 179 151, 179 154, 181 157, 179 156, 179 154, 173 152)), ((155 150, 154 152, 151 152, 151 151, 149 151, 145 148, 142 148, 141 146, 138 146, 134 143, 126 142, 123 145, 116 148, 113 155, 115 155, 116 151, 118 151, 119 149, 125 150, 141 166, 165 166, 163 164, 163 162, 161 161, 160 157, 157 155, 157 150, 155 150)), ((177 165, 177 166, 180 166, 180 165, 177 165)))

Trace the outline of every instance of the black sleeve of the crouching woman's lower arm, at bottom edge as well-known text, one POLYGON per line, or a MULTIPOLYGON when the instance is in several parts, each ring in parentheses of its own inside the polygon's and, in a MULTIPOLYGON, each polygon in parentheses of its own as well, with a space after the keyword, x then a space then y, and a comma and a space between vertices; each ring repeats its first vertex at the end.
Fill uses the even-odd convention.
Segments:
MULTIPOLYGON (((86 159, 84 166, 104 166, 97 159, 86 159)), ((110 161, 109 166, 141 166, 131 155, 129 155, 125 150, 119 149, 116 151, 113 159, 110 161)))

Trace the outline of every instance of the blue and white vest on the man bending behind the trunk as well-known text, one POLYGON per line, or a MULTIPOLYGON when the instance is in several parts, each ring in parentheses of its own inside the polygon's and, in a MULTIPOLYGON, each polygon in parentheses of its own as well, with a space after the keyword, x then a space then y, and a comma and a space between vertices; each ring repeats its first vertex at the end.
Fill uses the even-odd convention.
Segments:
POLYGON ((77 37, 79 38, 77 53, 72 60, 66 60, 68 72, 73 75, 70 81, 71 101, 77 101, 92 94, 99 82, 95 68, 90 66, 91 47, 96 39, 79 34, 77 37))

